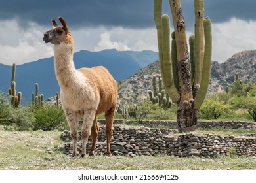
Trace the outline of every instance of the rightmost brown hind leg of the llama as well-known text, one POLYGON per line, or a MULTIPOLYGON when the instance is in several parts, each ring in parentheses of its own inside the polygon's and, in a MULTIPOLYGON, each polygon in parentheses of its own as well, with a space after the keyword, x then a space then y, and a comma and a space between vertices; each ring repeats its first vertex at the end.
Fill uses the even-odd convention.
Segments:
POLYGON ((107 140, 107 151, 106 156, 111 156, 110 152, 110 140, 113 135, 113 120, 114 120, 114 114, 115 114, 116 107, 110 108, 110 110, 105 112, 105 118, 106 118, 106 140, 107 140))

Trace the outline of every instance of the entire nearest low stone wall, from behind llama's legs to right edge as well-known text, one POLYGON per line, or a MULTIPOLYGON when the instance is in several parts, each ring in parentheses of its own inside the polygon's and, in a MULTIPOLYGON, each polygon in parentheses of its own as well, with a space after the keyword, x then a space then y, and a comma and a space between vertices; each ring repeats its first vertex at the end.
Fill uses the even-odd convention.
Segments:
MULTIPOLYGON (((174 134, 173 130, 151 129, 147 127, 121 127, 114 125, 111 151, 114 156, 200 156, 213 158, 223 154, 238 156, 256 156, 256 138, 232 135, 211 134, 174 134)), ((61 133, 60 138, 71 141, 70 131, 61 133)), ((87 153, 91 148, 91 139, 87 144, 87 153)), ((81 142, 79 142, 79 150, 81 142)), ((72 153, 72 143, 66 142, 60 147, 65 154, 72 153)), ((95 154, 106 154, 104 127, 100 127, 95 154)))

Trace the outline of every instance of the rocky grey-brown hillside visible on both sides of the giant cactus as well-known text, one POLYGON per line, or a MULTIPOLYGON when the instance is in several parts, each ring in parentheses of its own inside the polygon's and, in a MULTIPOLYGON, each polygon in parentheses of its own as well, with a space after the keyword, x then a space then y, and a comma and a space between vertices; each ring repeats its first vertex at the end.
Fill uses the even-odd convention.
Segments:
MULTIPOLYGON (((256 78, 256 50, 234 54, 223 63, 213 61, 208 93, 232 86, 236 73, 244 83, 256 78)), ((153 75, 160 76, 158 61, 154 61, 135 75, 119 82, 119 99, 125 100, 132 97, 133 101, 137 101, 140 98, 146 98, 148 90, 152 90, 153 75)))

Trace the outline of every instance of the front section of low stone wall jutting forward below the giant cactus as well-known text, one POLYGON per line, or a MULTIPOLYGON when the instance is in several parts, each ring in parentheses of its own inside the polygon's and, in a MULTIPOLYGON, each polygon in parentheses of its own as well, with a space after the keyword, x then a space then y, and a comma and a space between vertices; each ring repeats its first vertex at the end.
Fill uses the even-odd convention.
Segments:
POLYGON ((165 137, 165 140, 167 154, 174 156, 256 156, 256 138, 253 137, 190 133, 165 137))

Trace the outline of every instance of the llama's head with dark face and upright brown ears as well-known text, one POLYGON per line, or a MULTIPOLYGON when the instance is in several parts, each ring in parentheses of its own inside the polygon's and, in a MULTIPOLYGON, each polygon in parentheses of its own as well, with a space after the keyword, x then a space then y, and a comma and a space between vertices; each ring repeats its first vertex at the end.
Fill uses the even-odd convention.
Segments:
POLYGON ((52 19, 53 29, 44 33, 43 41, 45 41, 45 43, 51 42, 51 44, 60 44, 62 42, 65 44, 73 44, 72 35, 68 30, 65 20, 62 17, 58 17, 58 20, 60 20, 62 26, 58 26, 55 20, 52 19))

